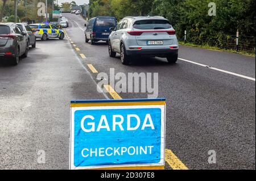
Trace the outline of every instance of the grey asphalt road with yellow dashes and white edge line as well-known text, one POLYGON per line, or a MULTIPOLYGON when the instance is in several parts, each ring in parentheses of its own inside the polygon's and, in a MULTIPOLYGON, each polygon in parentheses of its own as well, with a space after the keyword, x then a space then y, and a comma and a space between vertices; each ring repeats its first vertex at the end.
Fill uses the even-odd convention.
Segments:
MULTIPOLYGON (((158 97, 167 99, 166 148, 188 169, 255 169, 255 57, 181 46, 176 65, 137 58, 125 66, 105 43, 85 43, 81 16, 64 16, 63 41, 38 41, 18 66, 0 64, 0 169, 68 169, 69 101, 113 99, 96 91, 88 64, 108 75, 110 68, 158 73, 158 97), (46 164, 37 163, 39 150, 46 164), (216 164, 208 163, 209 150, 216 164)), ((173 167, 166 162, 166 169, 173 167)))

